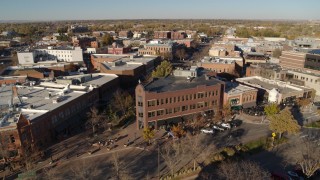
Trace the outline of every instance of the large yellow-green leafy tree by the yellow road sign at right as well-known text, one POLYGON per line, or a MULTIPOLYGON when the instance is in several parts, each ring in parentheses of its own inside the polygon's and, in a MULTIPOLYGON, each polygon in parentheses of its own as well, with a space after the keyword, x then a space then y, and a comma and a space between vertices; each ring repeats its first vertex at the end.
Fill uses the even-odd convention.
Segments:
POLYGON ((297 133, 300 130, 298 122, 293 118, 289 109, 282 110, 279 114, 270 117, 270 130, 279 134, 279 139, 284 132, 297 133))

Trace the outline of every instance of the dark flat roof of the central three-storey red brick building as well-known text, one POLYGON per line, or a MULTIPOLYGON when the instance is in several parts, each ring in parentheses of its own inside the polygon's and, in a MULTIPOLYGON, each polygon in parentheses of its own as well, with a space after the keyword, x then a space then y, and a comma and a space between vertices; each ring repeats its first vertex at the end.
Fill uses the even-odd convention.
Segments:
POLYGON ((205 79, 205 76, 195 77, 191 81, 186 77, 176 77, 170 75, 165 78, 158 78, 144 86, 146 91, 151 92, 168 92, 168 91, 179 91, 184 89, 196 88, 197 86, 213 86, 216 84, 223 84, 224 82, 210 78, 205 79))

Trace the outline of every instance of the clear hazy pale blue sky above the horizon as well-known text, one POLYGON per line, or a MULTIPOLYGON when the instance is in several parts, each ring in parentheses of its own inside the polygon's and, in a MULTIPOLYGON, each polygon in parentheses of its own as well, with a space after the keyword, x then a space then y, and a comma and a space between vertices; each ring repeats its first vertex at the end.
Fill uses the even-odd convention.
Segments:
POLYGON ((320 0, 2 0, 0 20, 320 19, 320 0))

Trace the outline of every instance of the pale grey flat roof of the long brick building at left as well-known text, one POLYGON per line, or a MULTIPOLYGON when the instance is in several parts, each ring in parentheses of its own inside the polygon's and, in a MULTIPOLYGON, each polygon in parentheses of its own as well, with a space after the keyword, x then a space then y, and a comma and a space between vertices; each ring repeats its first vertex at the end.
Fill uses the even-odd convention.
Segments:
MULTIPOLYGON (((66 84, 42 82, 38 86, 17 85, 17 92, 21 98, 22 103, 20 102, 18 97, 12 96, 12 86, 2 86, 0 87, 0 120, 2 121, 4 116, 8 114, 11 98, 13 104, 17 104, 19 107, 14 113, 22 113, 28 120, 32 121, 49 111, 52 111, 68 102, 71 102, 83 96, 84 94, 92 91, 93 88, 101 86, 116 78, 118 78, 118 76, 113 74, 94 74, 90 80, 86 81, 82 85, 70 85, 69 91, 64 94, 62 93, 62 91, 67 87, 66 84), (60 98, 60 101, 55 103, 54 101, 58 98, 60 98)), ((12 121, 12 119, 8 119, 1 122, 0 128, 13 125, 15 123, 16 122, 12 121)))

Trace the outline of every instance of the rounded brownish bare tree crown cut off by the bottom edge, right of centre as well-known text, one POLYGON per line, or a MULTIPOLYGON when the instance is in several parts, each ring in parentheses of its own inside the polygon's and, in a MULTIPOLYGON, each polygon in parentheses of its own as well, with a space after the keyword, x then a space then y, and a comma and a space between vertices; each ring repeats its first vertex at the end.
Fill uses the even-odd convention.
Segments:
POLYGON ((270 179, 270 174, 251 161, 222 162, 218 167, 217 179, 247 180, 247 179, 270 179))

